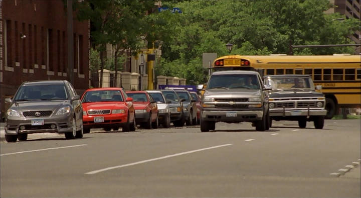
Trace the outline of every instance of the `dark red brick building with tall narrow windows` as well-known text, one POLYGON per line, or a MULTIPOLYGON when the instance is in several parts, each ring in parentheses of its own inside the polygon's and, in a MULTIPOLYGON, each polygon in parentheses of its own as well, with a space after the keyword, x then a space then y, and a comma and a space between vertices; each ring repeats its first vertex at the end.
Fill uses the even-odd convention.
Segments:
MULTIPOLYGON (((27 80, 68 80, 67 13, 63 0, 0 0, 0 95, 27 80)), ((73 14, 74 86, 89 87, 89 22, 73 14)))

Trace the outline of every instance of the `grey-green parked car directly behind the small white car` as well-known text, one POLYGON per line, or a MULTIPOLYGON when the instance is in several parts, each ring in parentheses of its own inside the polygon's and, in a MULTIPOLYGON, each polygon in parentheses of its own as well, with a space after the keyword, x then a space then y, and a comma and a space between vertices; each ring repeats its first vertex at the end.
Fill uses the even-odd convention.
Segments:
POLYGON ((185 123, 185 117, 183 113, 183 101, 185 99, 180 100, 178 95, 173 89, 161 89, 160 90, 165 100, 170 101, 168 104, 170 111, 170 122, 173 123, 175 127, 183 127, 185 123))

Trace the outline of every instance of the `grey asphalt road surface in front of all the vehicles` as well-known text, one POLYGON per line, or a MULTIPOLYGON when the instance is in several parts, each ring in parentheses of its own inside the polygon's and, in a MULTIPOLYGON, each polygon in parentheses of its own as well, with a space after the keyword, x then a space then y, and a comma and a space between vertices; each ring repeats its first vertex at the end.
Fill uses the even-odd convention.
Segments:
POLYGON ((360 120, 326 120, 323 130, 281 121, 266 132, 217 123, 209 133, 194 126, 28 139, 0 143, 1 197, 361 195, 360 120))

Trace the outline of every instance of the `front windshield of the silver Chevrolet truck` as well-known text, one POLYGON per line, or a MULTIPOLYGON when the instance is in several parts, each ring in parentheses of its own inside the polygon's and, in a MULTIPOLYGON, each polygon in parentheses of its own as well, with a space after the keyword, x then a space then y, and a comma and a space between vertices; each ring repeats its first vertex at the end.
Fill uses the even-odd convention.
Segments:
POLYGON ((254 74, 222 74, 212 75, 208 82, 208 89, 259 89, 260 84, 257 75, 254 74))

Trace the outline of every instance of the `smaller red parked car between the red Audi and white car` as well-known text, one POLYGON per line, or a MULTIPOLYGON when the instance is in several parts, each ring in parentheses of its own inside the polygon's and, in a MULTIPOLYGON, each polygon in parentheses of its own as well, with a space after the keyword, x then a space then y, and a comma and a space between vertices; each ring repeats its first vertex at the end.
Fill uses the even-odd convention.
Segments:
POLYGON ((146 129, 158 128, 158 107, 153 98, 146 91, 127 91, 133 98, 135 120, 146 129))

